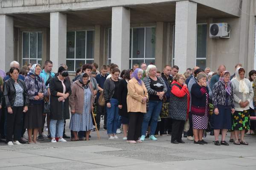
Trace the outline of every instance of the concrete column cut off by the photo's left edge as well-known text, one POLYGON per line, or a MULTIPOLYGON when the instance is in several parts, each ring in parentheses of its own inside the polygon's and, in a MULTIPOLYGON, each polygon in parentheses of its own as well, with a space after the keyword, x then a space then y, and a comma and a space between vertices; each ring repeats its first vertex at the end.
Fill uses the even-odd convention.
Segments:
POLYGON ((8 71, 14 60, 13 18, 0 15, 0 68, 8 71))

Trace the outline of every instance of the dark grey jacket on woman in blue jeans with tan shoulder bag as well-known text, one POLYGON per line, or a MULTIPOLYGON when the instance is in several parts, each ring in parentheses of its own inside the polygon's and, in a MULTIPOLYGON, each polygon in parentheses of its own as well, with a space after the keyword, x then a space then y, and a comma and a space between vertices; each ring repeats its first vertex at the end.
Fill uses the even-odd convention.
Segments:
MULTIPOLYGON (((121 79, 118 79, 118 81, 120 82, 121 79)), ((106 79, 104 82, 104 88, 103 88, 103 96, 106 103, 110 102, 110 99, 112 98, 114 92, 115 92, 115 83, 111 78, 106 79)))

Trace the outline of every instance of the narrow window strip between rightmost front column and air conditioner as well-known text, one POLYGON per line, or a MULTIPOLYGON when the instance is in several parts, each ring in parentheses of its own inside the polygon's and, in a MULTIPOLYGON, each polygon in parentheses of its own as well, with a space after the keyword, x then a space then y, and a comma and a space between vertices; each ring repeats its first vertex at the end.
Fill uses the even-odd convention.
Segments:
POLYGON ((207 24, 197 24, 196 65, 202 69, 206 67, 207 55, 207 24))

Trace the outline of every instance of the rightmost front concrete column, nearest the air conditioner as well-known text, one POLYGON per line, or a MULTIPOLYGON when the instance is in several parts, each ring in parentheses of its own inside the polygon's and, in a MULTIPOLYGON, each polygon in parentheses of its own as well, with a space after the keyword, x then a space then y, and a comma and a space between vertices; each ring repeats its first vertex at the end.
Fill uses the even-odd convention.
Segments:
POLYGON ((175 65, 180 73, 195 66, 197 3, 176 2, 175 14, 175 65))

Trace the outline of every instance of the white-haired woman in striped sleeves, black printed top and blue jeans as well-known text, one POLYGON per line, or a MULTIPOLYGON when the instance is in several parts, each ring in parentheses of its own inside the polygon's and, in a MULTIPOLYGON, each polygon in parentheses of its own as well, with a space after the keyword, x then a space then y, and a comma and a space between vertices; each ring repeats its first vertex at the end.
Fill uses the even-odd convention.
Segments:
POLYGON ((157 128, 157 118, 162 109, 162 100, 167 91, 166 83, 162 77, 157 77, 157 67, 155 65, 148 65, 146 70, 147 77, 143 79, 145 87, 147 88, 149 99, 148 99, 148 110, 147 114, 144 114, 141 137, 140 140, 145 140, 146 130, 148 128, 148 122, 151 119, 150 124, 150 136, 149 139, 156 141, 157 138, 154 136, 157 128))

